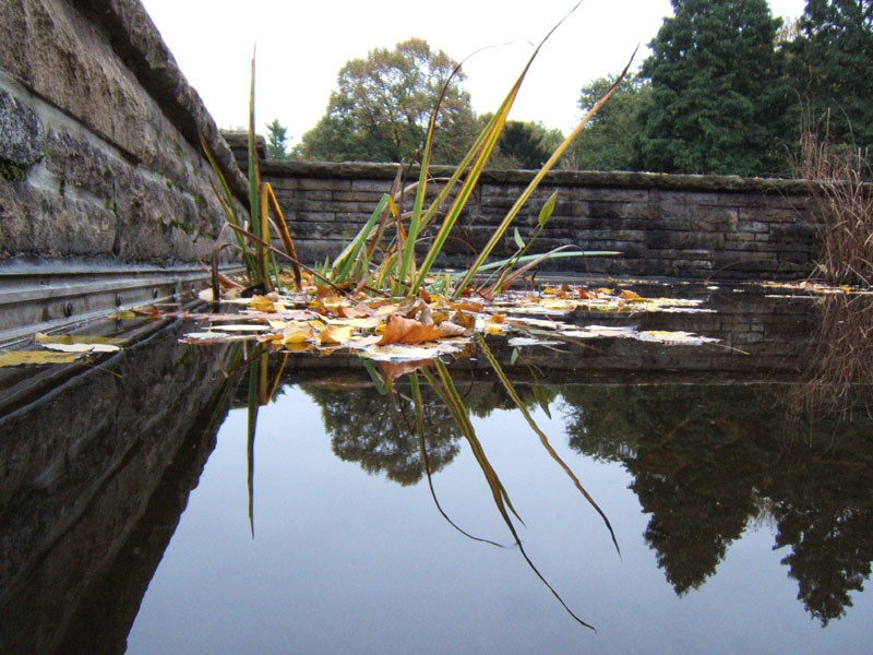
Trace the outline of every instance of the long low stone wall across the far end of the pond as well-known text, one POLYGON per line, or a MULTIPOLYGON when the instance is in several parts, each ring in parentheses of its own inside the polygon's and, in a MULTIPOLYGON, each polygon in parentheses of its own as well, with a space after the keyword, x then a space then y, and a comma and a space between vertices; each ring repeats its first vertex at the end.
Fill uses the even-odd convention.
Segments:
MULTIPOLYGON (((301 259, 335 257, 391 189, 397 167, 264 162, 301 259)), ((434 168, 436 176, 452 169, 434 168)), ((415 171, 407 176, 416 179, 415 171)), ((531 171, 486 171, 440 265, 462 267, 533 179, 531 171)), ((617 276, 766 279, 805 277, 817 243, 815 203, 801 181, 630 172, 551 172, 515 225, 523 238, 553 191, 554 214, 531 252, 564 245, 617 258, 564 259, 545 269, 617 276)), ((411 205, 407 200, 406 209, 411 205)), ((513 230, 494 257, 515 249, 513 230)))

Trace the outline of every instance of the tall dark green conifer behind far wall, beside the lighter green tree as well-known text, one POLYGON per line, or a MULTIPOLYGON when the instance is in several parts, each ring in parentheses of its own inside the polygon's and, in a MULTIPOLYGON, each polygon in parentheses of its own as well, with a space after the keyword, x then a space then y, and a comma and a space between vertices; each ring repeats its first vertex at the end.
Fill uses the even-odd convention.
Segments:
POLYGON ((780 20, 766 0, 672 0, 641 73, 642 166, 665 172, 769 174, 781 169, 792 102, 775 48, 780 20))

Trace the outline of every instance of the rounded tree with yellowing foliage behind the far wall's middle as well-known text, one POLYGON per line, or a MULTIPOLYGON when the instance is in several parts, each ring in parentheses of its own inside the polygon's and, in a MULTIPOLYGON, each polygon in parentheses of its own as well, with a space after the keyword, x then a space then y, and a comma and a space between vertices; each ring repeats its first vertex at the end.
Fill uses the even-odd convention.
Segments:
MULTIPOLYGON (((445 52, 434 52, 418 38, 348 61, 339 71, 326 114, 303 135, 301 155, 334 162, 415 157, 456 66, 445 52)), ((461 87, 463 80, 463 72, 452 79, 440 107, 434 163, 455 163, 473 142, 474 115, 469 94, 461 87)))

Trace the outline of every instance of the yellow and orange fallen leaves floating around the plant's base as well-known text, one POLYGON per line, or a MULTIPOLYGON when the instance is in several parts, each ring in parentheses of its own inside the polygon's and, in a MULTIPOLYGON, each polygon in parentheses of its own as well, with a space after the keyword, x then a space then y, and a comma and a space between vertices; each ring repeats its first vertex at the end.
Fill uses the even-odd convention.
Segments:
MULTIPOLYGON (((343 348, 367 359, 415 361, 462 352, 474 334, 502 335, 514 347, 554 345, 573 338, 635 338, 665 345, 699 346, 718 340, 689 332, 637 331, 633 326, 587 325, 577 319, 589 312, 711 312, 703 300, 648 298, 630 289, 547 286, 538 293, 506 291, 490 302, 422 293, 419 297, 343 296, 316 286, 302 290, 241 298, 231 288, 220 302, 243 306, 239 313, 198 313, 208 321, 205 332, 187 335, 187 343, 215 343, 255 337, 278 350, 311 346, 328 354, 343 348), (231 321, 230 317, 237 317, 231 321), (213 318, 214 317, 214 318, 213 318), (225 324, 222 324, 225 323, 225 324), (247 335, 251 333, 251 335, 247 335), (240 336, 246 335, 246 336, 240 336)), ((201 294, 211 300, 211 289, 201 294)), ((218 309, 218 308, 216 308, 218 309)))

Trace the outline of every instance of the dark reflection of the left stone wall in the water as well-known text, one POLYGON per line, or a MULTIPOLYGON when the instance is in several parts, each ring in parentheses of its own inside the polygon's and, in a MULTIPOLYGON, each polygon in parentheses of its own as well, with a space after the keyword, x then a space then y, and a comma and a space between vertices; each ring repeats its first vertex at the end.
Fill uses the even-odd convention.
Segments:
POLYGON ((226 412, 227 353, 178 336, 0 419, 0 652, 124 651, 226 412))

